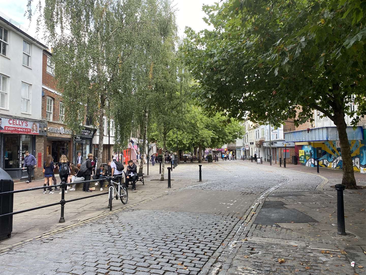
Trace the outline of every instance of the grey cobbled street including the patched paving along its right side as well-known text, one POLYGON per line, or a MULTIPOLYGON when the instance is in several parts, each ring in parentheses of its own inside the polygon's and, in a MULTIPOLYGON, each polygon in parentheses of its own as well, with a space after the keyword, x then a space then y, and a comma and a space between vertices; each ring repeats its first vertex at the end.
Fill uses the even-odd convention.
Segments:
POLYGON ((366 274, 365 190, 345 191, 340 237, 325 177, 231 161, 204 164, 198 183, 197 170, 181 164, 172 190, 145 180, 147 201, 130 194, 110 214, 95 201, 100 218, 8 245, 1 275, 366 274))

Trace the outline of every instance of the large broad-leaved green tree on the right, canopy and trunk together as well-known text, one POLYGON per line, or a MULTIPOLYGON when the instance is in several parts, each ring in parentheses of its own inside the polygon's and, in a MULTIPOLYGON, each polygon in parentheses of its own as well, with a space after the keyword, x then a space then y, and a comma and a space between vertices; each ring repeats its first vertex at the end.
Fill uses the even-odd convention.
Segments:
POLYGON ((321 111, 337 126, 343 183, 354 187, 344 116, 356 125, 365 114, 366 3, 229 0, 203 10, 214 30, 188 28, 184 44, 202 106, 275 126, 321 111))

